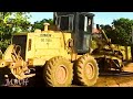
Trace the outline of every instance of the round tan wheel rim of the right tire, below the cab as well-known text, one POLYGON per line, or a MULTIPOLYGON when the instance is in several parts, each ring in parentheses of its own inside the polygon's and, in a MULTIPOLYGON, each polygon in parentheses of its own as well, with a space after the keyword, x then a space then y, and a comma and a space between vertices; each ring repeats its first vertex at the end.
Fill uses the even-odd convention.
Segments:
POLYGON ((94 67, 91 63, 86 64, 85 74, 86 74, 88 79, 92 79, 94 77, 94 67))

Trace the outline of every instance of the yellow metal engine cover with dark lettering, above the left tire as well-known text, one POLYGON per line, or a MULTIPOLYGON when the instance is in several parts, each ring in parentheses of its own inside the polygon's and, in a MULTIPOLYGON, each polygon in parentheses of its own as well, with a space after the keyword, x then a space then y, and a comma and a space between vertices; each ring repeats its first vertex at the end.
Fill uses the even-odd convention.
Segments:
POLYGON ((33 61, 33 66, 44 65, 45 61, 54 56, 63 56, 71 59, 71 55, 65 48, 71 33, 43 31, 41 33, 27 33, 25 62, 33 61), (29 41, 31 40, 31 41, 29 41), (29 44, 31 48, 29 50, 29 44))

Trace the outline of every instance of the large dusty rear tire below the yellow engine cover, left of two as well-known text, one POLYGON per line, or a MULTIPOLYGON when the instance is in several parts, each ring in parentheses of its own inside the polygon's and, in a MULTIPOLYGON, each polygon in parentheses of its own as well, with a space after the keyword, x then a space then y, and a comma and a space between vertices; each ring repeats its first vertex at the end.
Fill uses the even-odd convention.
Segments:
POLYGON ((44 67, 44 80, 49 87, 69 87, 73 78, 71 63, 62 56, 51 58, 44 67))

